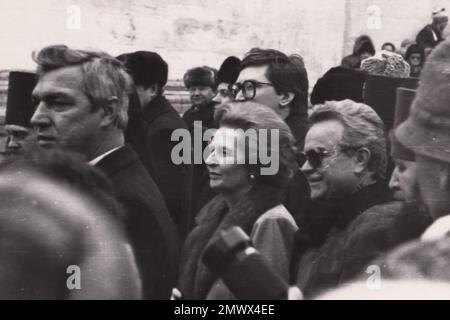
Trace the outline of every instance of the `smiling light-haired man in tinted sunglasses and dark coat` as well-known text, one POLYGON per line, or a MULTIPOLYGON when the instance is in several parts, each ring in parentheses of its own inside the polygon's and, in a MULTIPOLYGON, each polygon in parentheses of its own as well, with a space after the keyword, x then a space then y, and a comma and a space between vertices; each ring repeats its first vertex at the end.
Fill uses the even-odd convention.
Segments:
MULTIPOLYGON (((318 105, 310 116, 302 167, 312 206, 299 232, 296 284, 306 298, 365 272, 369 262, 399 242, 401 202, 387 186, 383 122, 351 100, 318 105)), ((405 236, 403 236, 405 235, 405 236)))

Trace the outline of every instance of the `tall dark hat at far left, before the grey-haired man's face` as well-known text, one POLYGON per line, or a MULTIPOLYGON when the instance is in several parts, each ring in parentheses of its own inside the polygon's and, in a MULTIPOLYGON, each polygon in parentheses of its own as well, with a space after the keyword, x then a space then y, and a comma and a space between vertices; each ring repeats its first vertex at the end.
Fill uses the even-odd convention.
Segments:
POLYGON ((31 93, 36 83, 35 73, 19 71, 9 73, 5 124, 31 128, 30 120, 35 111, 31 93))

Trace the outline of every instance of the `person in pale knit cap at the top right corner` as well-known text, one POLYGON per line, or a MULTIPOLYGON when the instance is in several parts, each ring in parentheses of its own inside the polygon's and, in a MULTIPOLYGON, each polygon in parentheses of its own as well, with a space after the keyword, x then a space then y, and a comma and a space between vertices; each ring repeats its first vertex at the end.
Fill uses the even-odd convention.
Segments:
POLYGON ((416 42, 424 50, 434 48, 444 40, 442 33, 448 24, 448 15, 445 8, 436 8, 431 14, 433 22, 426 25, 417 34, 416 42))

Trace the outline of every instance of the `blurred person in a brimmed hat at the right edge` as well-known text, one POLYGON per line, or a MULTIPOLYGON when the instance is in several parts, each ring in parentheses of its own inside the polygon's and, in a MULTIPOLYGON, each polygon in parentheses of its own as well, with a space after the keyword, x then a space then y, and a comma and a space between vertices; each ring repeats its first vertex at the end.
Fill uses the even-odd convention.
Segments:
POLYGON ((449 52, 450 41, 432 52, 409 117, 395 131, 398 141, 415 155, 420 194, 433 220, 450 214, 449 52))

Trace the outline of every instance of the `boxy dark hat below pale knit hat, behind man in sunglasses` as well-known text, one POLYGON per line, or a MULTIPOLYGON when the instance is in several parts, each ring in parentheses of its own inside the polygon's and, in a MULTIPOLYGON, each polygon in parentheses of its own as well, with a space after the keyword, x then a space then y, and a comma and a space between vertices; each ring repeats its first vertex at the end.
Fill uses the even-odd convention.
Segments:
POLYGON ((368 74, 364 85, 364 103, 378 113, 386 129, 390 130, 394 125, 397 88, 415 89, 417 83, 416 78, 392 78, 368 74))

